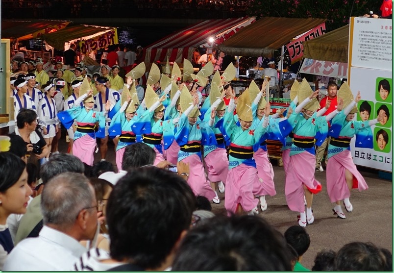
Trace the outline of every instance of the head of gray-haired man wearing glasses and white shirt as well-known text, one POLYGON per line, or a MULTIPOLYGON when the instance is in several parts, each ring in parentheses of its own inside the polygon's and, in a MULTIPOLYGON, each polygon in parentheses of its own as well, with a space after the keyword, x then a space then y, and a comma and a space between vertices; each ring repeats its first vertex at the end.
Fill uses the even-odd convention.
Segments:
POLYGON ((77 241, 95 237, 97 202, 93 186, 83 174, 63 173, 50 179, 42 193, 41 211, 45 225, 77 241))

